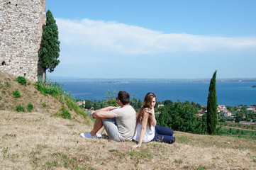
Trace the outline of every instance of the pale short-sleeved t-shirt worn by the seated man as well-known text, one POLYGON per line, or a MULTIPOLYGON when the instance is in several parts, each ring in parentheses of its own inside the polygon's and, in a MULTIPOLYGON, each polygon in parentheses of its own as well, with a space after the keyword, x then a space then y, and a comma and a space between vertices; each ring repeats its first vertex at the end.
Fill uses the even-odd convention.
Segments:
POLYGON ((111 111, 116 116, 118 135, 121 140, 133 140, 136 127, 136 111, 132 106, 124 106, 111 111))

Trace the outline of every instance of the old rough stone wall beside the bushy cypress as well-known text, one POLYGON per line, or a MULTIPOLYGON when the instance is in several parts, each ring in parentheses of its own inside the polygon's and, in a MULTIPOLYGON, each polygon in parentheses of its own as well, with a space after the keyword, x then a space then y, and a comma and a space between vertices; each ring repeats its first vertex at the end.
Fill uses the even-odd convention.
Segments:
POLYGON ((37 81, 45 0, 0 0, 0 72, 37 81))

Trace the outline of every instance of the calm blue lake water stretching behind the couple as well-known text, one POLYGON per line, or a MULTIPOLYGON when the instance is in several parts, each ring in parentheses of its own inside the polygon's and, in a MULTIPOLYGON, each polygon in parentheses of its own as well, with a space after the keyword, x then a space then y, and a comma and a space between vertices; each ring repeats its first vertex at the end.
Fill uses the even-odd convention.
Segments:
MULTIPOLYGON (((107 90, 113 92, 128 91, 135 98, 143 100, 149 91, 157 95, 158 101, 194 101, 206 105, 208 97, 208 82, 169 82, 169 83, 89 83, 87 81, 57 81, 63 84, 77 99, 106 99, 107 90)), ((228 106, 256 104, 256 81, 217 82, 216 90, 218 104, 228 106)))

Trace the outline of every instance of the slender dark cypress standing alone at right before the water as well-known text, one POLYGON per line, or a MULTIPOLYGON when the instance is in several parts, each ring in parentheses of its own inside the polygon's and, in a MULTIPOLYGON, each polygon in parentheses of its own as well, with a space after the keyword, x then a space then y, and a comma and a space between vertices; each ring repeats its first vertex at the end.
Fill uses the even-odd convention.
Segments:
POLYGON ((207 101, 207 130, 209 135, 216 135, 217 126, 217 94, 216 94, 216 74, 214 72, 213 78, 209 86, 208 101, 207 101))

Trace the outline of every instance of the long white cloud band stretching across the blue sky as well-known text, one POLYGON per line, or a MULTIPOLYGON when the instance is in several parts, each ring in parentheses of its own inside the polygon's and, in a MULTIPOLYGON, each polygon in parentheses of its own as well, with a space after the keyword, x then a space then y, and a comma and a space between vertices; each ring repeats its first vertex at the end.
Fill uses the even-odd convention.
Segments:
POLYGON ((216 52, 256 49, 256 37, 211 37, 204 35, 163 34, 159 31, 123 23, 72 21, 57 18, 62 44, 128 55, 162 52, 216 52))

